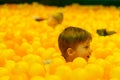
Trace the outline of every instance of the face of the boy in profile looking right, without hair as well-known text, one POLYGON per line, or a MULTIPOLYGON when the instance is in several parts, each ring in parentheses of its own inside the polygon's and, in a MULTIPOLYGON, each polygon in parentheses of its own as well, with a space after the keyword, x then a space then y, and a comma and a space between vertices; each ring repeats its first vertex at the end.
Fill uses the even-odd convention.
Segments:
POLYGON ((85 41, 84 43, 79 43, 78 46, 76 47, 75 50, 73 50, 73 59, 76 57, 82 57, 85 60, 88 61, 88 58, 91 55, 91 50, 90 50, 90 39, 85 41))

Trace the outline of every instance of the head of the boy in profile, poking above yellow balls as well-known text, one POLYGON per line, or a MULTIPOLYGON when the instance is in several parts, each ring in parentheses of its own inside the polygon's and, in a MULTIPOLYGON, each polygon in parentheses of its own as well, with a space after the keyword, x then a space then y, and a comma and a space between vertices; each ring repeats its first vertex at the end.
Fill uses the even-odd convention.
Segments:
POLYGON ((91 34, 78 27, 67 27, 59 35, 58 45, 62 56, 67 62, 73 61, 76 57, 88 60, 91 50, 89 48, 91 34))

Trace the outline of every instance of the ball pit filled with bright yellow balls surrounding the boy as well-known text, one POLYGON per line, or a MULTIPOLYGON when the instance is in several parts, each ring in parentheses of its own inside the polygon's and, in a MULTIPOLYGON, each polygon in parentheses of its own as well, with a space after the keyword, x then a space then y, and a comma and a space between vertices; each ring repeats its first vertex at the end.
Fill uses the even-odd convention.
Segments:
POLYGON ((0 80, 120 80, 120 8, 115 6, 64 7, 32 4, 0 5, 0 80), (61 11, 63 22, 55 28, 47 18, 61 11), (58 48, 58 35, 67 26, 92 34, 88 62, 76 58, 66 63, 58 48), (99 36, 97 29, 116 32, 99 36))

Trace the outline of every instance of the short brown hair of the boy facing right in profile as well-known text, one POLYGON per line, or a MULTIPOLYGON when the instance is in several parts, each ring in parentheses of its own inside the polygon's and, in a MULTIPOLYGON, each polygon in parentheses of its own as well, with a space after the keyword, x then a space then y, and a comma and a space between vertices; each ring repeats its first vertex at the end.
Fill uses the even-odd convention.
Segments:
POLYGON ((66 52, 68 48, 75 49, 78 43, 85 42, 89 38, 92 39, 89 32, 78 27, 67 27, 58 37, 58 45, 62 56, 66 59, 68 56, 66 52))

